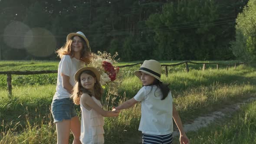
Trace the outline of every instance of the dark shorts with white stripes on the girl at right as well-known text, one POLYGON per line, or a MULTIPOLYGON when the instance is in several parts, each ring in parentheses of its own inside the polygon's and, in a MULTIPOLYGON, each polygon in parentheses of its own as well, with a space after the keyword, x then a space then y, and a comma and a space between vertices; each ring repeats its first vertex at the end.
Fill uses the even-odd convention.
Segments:
POLYGON ((154 135, 142 134, 143 144, 172 144, 172 134, 154 135))

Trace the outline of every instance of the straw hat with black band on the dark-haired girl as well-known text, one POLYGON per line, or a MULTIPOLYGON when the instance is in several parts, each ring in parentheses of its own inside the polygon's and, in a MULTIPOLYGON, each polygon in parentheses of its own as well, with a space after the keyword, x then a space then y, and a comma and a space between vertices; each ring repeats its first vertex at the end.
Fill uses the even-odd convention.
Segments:
POLYGON ((161 81, 161 72, 162 72, 162 67, 160 62, 150 59, 150 60, 145 60, 143 64, 141 65, 140 69, 138 71, 135 71, 134 74, 141 79, 141 74, 140 72, 145 72, 149 75, 154 76, 156 79, 161 81))

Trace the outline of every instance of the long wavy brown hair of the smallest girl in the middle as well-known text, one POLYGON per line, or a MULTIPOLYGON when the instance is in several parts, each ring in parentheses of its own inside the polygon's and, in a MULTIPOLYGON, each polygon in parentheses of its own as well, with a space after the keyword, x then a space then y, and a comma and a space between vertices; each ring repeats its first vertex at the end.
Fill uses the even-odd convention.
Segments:
POLYGON ((96 80, 96 83, 94 84, 94 97, 98 100, 100 100, 102 98, 103 88, 100 85, 100 83, 98 82, 98 80, 96 79, 96 75, 90 70, 85 70, 85 71, 81 72, 81 74, 79 75, 79 81, 75 82, 75 86, 73 88, 73 92, 71 95, 71 98, 73 99, 75 105, 80 104, 80 97, 83 93, 86 93, 86 94, 92 96, 92 92, 90 92, 88 89, 84 88, 81 84, 80 76, 83 73, 91 75, 96 80))

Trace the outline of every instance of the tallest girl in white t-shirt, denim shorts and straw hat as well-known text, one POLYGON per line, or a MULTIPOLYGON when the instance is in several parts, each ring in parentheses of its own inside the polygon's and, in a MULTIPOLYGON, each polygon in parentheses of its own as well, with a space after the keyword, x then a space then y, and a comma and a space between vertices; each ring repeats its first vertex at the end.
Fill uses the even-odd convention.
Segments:
POLYGON ((66 44, 56 52, 61 60, 51 112, 56 124, 57 144, 69 144, 70 130, 74 135, 73 144, 81 144, 80 121, 70 95, 75 85, 75 72, 92 57, 89 41, 82 32, 70 33, 66 44))

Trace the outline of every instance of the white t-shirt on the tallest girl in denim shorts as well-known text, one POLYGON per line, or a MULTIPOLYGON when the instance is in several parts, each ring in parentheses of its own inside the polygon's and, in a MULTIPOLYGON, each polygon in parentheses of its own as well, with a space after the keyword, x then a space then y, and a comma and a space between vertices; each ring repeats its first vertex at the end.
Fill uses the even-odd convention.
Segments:
POLYGON ((85 65, 84 62, 80 61, 79 59, 70 58, 69 55, 65 55, 59 62, 58 67, 58 78, 57 78, 57 86, 56 92, 53 96, 54 99, 62 99, 62 98, 69 98, 70 93, 63 88, 62 85, 62 76, 61 73, 64 75, 69 76, 69 83, 74 86, 75 85, 75 72, 82 68, 85 65))

